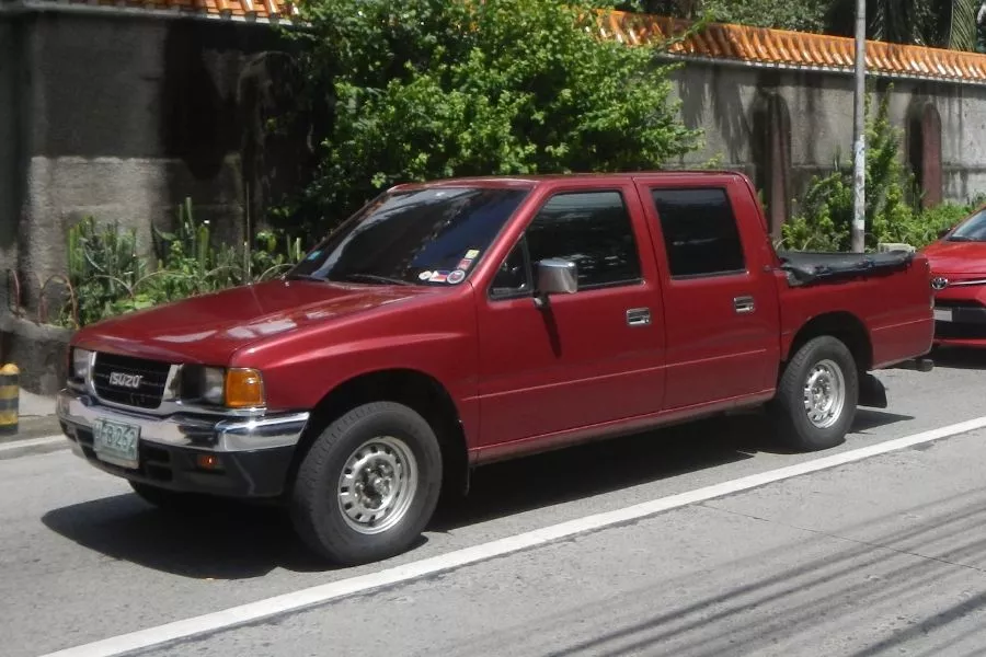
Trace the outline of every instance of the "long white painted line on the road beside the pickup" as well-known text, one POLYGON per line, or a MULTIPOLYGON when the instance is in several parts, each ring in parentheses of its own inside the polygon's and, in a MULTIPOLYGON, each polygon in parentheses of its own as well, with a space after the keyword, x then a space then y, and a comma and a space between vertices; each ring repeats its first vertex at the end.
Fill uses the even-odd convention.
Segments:
POLYGON ((949 425, 947 427, 940 427, 938 429, 921 431, 920 434, 915 434, 913 436, 887 440, 886 442, 881 442, 879 445, 871 445, 869 447, 849 450, 829 457, 822 457, 787 468, 779 468, 777 470, 713 484, 711 486, 670 495, 668 497, 652 499, 622 509, 576 518, 575 520, 569 520, 567 522, 561 522, 559 525, 536 529, 534 531, 498 539, 496 541, 490 541, 489 543, 473 545, 472 548, 456 550, 455 552, 439 554, 437 556, 387 568, 377 573, 331 581, 329 584, 313 586, 290 593, 275 596, 265 600, 259 600, 239 607, 231 607, 222 611, 168 623, 157 627, 148 627, 147 630, 139 630, 129 634, 122 634, 103 641, 50 653, 43 657, 113 657, 133 650, 159 646, 173 641, 187 639, 219 630, 228 630, 230 627, 261 621, 286 612, 317 607, 355 593, 365 593, 381 587, 411 581, 413 579, 503 556, 520 550, 543 545, 544 543, 570 538, 575 534, 611 527, 622 522, 640 520, 662 511, 698 502, 706 502, 715 497, 748 491, 765 484, 836 468, 838 465, 845 465, 846 463, 861 461, 871 457, 906 449, 925 442, 941 440, 942 438, 967 434, 983 428, 986 428, 986 416, 949 425))

